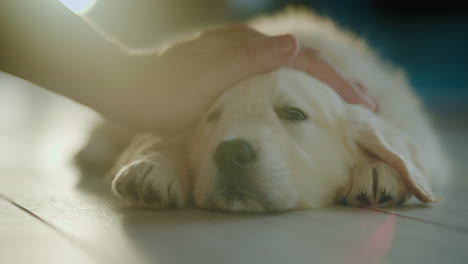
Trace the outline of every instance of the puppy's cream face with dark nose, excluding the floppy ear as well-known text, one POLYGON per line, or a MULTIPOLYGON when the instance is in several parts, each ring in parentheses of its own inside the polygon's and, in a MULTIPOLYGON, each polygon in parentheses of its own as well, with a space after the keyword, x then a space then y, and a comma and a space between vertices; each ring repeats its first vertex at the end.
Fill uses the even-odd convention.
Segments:
POLYGON ((346 110, 332 89, 305 73, 280 69, 239 83, 193 135, 195 203, 231 211, 333 203, 356 163, 346 110))

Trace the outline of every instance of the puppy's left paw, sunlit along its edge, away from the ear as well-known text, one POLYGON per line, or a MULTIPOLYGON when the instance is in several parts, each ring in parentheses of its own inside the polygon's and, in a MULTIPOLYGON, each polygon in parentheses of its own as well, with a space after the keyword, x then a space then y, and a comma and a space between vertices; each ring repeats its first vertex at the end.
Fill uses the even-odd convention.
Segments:
POLYGON ((112 191, 136 206, 182 208, 188 197, 184 180, 181 172, 168 163, 145 158, 123 167, 112 181, 112 191))

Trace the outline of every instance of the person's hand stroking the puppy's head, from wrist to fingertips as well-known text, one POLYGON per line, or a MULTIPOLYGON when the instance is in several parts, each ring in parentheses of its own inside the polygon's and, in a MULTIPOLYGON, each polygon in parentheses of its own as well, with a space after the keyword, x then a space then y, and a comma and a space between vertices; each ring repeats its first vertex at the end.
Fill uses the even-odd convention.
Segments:
POLYGON ((347 80, 319 52, 300 48, 292 35, 269 37, 246 26, 202 32, 141 65, 137 84, 128 91, 133 103, 125 109, 129 118, 124 122, 142 130, 172 133, 188 128, 235 83, 280 66, 316 76, 347 102, 376 110, 362 86, 347 80))

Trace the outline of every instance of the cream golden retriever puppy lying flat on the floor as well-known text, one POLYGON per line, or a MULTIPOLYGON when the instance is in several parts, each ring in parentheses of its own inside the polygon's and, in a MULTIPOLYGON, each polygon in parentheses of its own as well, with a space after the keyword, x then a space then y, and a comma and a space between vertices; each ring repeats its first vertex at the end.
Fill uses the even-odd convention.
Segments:
POLYGON ((281 68, 222 95, 194 131, 136 135, 109 175, 132 205, 228 211, 318 208, 337 202, 434 202, 430 177, 445 156, 403 72, 364 41, 308 11, 252 21, 265 34, 292 33, 377 99, 379 113, 344 102, 308 74, 281 68))

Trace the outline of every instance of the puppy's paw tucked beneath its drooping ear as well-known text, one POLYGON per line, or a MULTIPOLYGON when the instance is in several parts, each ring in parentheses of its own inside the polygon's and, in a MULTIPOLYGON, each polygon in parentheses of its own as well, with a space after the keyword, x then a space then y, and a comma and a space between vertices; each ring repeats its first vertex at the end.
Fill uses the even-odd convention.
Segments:
POLYGON ((393 206, 402 204, 410 197, 400 174, 383 162, 358 165, 351 177, 351 186, 344 197, 347 204, 393 206))

